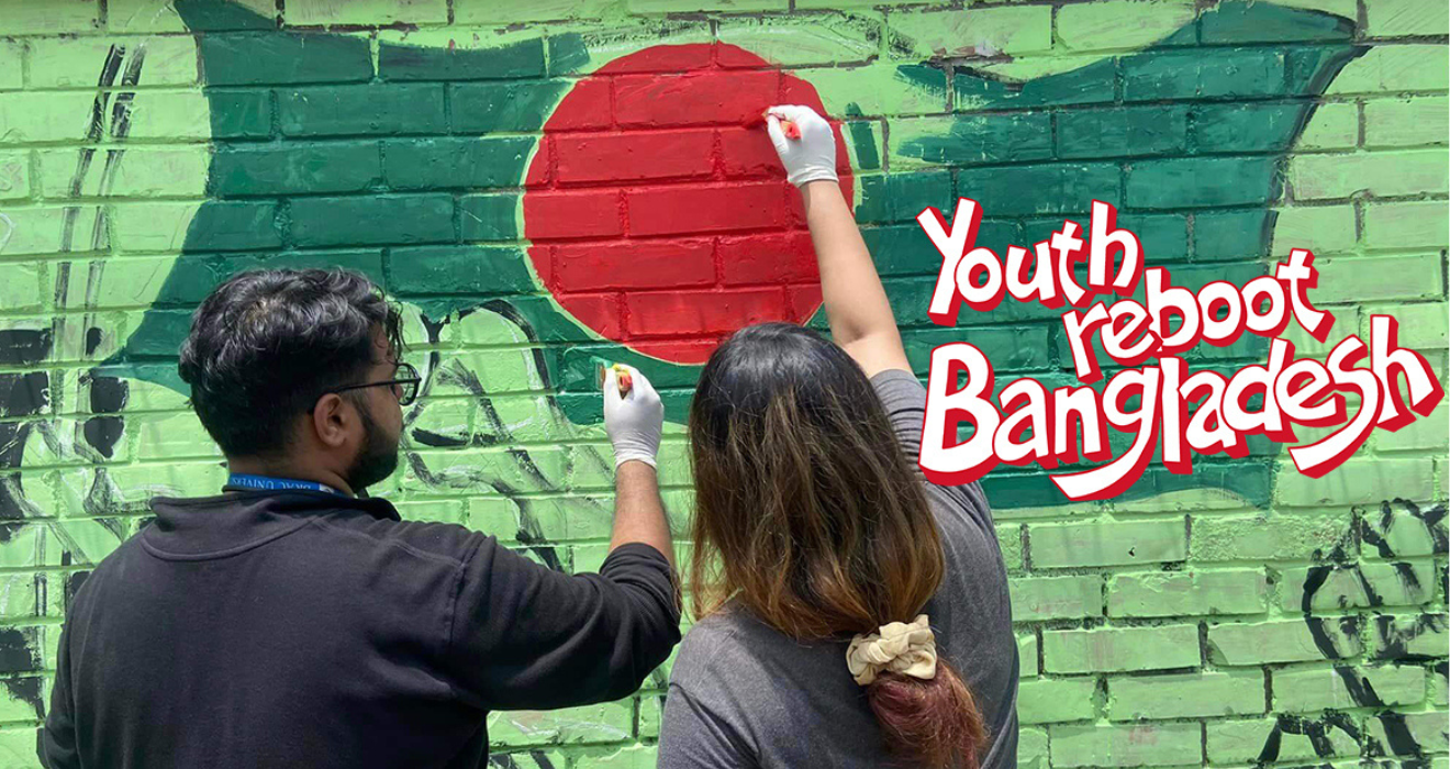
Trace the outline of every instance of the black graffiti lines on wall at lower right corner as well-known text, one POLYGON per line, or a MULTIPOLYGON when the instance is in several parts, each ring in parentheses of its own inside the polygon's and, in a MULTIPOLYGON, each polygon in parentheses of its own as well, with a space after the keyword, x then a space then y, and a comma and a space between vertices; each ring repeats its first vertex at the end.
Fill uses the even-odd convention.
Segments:
MULTIPOLYGON (((1421 511, 1418 505, 1406 499, 1396 498, 1393 506, 1391 501, 1380 502, 1379 515, 1379 530, 1389 531, 1395 522, 1395 506, 1404 509, 1411 518, 1418 519, 1428 535, 1431 537, 1433 551, 1441 554, 1446 551, 1446 532, 1440 528, 1440 522, 1446 519, 1446 505, 1437 505, 1428 511, 1421 511)), ((1325 620, 1312 615, 1314 598, 1318 595, 1320 589, 1324 588, 1330 575, 1335 569, 1344 569, 1343 566, 1347 559, 1347 548, 1354 543, 1356 537, 1375 547, 1380 557, 1393 559, 1396 553, 1391 547, 1389 541, 1379 532, 1370 528, 1364 519, 1364 511, 1354 509, 1354 521, 1350 530, 1344 532, 1338 543, 1331 548, 1330 559, 1334 563, 1321 564, 1309 569, 1304 580, 1304 592, 1301 595, 1299 608, 1304 612, 1305 625, 1309 630, 1309 636, 1314 640, 1315 647, 1320 650, 1325 659, 1340 659, 1338 649, 1334 646, 1334 640, 1325 630, 1325 620)), ((1364 595, 1370 605, 1382 605, 1383 598, 1370 586, 1369 580, 1364 577, 1363 570, 1357 564, 1350 564, 1348 570, 1354 575, 1360 586, 1364 589, 1364 595)), ((1395 564, 1396 577, 1399 577, 1406 588, 1420 588, 1420 579, 1409 570, 1408 564, 1395 564)), ((1440 615, 1421 615, 1415 620, 1415 625, 1399 633, 1395 630, 1393 617, 1376 617, 1376 630, 1379 636, 1379 644, 1383 650, 1378 654, 1379 659, 1402 659, 1406 662, 1428 662, 1438 660, 1438 657, 1427 657, 1422 654, 1408 654, 1406 644, 1411 638, 1420 636, 1425 631, 1441 631, 1444 630, 1446 620, 1440 615)), ((1357 633, 1357 617, 1343 617, 1340 618, 1341 631, 1354 630, 1357 633), (1344 622, 1353 621, 1356 628, 1347 628, 1344 622)), ((1440 660, 1434 670, 1447 670, 1447 663, 1440 660)), ((1359 708, 1383 708, 1385 701, 1375 691, 1375 686, 1364 676, 1354 672, 1353 667, 1335 666, 1334 673, 1344 682, 1344 689, 1348 692, 1350 699, 1354 707, 1359 708)), ((1421 746, 1415 740, 1414 734, 1409 731, 1409 725, 1405 723, 1404 714, 1398 712, 1379 712, 1373 718, 1378 718, 1380 727, 1385 731, 1385 740, 1389 743, 1389 750, 1395 756, 1414 756, 1421 753, 1421 746)), ((1270 730, 1269 737, 1264 740, 1264 747, 1259 754, 1259 762, 1272 762, 1279 757, 1279 749, 1283 740, 1283 734, 1301 734, 1309 739, 1311 747, 1318 757, 1334 756, 1334 746, 1330 741, 1330 730, 1340 728, 1348 734, 1356 743, 1359 743, 1367 754, 1385 754, 1385 747, 1379 744, 1379 740, 1370 734, 1360 733, 1348 715, 1335 711, 1327 711, 1320 718, 1304 718, 1289 714, 1280 714, 1273 730, 1270 730)), ((1401 763, 1401 766, 1428 766, 1427 762, 1408 759, 1401 763)))

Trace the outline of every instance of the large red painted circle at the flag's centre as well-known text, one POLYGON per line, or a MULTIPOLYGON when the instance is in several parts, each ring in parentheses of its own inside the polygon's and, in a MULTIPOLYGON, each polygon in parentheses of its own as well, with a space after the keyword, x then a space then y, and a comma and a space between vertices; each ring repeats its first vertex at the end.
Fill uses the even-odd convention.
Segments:
MULTIPOLYGON (((608 340, 703 363, 721 337, 805 322, 821 280, 800 194, 761 112, 813 86, 725 44, 657 45, 580 80, 544 125, 523 196, 529 258, 608 340)), ((851 167, 837 129, 841 192, 851 167)))

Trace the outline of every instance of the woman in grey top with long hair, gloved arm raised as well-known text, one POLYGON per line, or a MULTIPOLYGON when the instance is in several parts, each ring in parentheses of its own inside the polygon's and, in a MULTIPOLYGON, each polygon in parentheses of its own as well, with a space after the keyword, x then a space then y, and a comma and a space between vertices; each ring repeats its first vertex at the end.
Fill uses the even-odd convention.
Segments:
POLYGON ((1016 643, 986 498, 916 469, 927 393, 841 194, 831 125, 783 106, 768 131, 803 196, 834 344, 755 325, 700 374, 696 624, 660 766, 1015 766, 1016 643))

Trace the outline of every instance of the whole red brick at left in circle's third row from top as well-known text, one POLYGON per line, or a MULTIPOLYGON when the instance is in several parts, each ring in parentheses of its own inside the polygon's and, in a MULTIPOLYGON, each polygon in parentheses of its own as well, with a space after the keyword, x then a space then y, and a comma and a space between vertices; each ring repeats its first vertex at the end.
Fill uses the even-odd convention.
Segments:
POLYGON ((708 177, 713 171, 715 132, 708 128, 571 133, 552 142, 560 184, 708 177))

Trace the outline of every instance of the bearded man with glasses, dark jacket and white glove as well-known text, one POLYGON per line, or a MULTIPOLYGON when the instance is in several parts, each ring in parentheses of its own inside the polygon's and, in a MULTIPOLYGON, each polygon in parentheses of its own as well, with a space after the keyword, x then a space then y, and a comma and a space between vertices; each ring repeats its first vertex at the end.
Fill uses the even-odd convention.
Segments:
POLYGON ((648 380, 606 384, 610 553, 563 575, 365 496, 420 382, 399 326, 341 270, 244 273, 202 303, 180 373, 231 476, 152 501, 75 593, 45 766, 474 768, 489 711, 616 699, 664 662, 680 615, 648 380))

